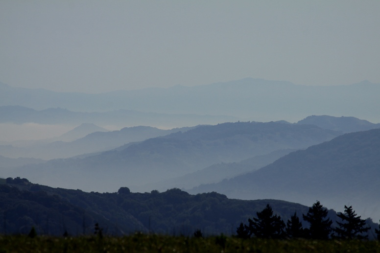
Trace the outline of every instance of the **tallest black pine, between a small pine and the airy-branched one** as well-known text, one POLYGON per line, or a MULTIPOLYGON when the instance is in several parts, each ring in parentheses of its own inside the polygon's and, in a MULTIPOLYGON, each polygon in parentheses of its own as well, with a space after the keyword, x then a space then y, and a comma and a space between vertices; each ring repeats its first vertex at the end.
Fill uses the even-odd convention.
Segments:
POLYGON ((324 208, 319 201, 309 207, 309 212, 302 216, 304 220, 310 223, 309 230, 305 230, 305 232, 311 239, 329 239, 333 222, 330 219, 325 219, 327 208, 324 208))

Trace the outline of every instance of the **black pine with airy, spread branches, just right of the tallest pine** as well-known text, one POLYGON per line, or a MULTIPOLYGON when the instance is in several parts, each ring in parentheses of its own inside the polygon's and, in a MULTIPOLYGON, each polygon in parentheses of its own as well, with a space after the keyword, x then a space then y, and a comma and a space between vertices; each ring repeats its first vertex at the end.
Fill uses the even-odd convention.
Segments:
POLYGON ((337 216, 342 219, 342 222, 336 222, 339 228, 333 229, 337 236, 344 239, 364 239, 368 238, 368 235, 360 235, 358 233, 367 232, 370 228, 365 228, 365 220, 360 219, 361 216, 356 217, 355 211, 352 206, 344 206, 344 213, 339 213, 337 216))

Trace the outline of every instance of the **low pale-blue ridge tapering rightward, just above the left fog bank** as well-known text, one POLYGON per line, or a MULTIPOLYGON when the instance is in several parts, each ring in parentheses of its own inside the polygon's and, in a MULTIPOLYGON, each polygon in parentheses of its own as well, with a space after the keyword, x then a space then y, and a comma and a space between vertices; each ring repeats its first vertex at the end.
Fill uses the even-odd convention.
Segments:
MULTIPOLYGON (((39 123, 39 124, 83 124, 93 123, 99 126, 156 126, 175 128, 198 124, 217 124, 237 121, 239 118, 223 115, 166 114, 146 113, 133 110, 115 110, 108 112, 72 112, 62 108, 34 110, 22 106, 0 106, 0 123, 39 123)), ((121 128, 121 127, 120 127, 121 128)))

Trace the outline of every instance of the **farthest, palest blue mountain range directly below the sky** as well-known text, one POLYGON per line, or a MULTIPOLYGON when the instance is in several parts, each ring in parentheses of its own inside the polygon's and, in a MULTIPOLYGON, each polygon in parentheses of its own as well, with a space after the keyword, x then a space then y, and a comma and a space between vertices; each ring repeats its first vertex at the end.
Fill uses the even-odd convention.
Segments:
POLYGON ((0 84, 0 106, 20 105, 35 110, 59 107, 75 112, 126 109, 145 113, 232 115, 259 121, 285 118, 293 122, 307 115, 328 114, 379 122, 379 94, 380 84, 368 81, 353 85, 304 86, 246 78, 194 87, 101 94, 51 92, 0 84))

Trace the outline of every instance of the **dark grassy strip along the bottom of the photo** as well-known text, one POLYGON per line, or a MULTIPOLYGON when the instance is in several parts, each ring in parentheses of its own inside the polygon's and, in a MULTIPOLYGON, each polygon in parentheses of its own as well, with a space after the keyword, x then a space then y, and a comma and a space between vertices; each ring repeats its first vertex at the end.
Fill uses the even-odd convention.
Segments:
POLYGON ((380 253, 378 241, 271 240, 135 234, 123 237, 0 236, 0 253, 13 252, 257 252, 380 253))

